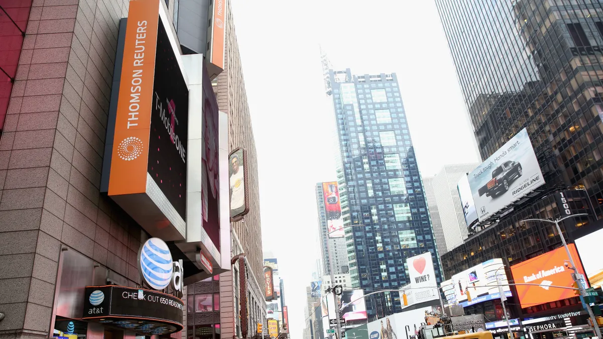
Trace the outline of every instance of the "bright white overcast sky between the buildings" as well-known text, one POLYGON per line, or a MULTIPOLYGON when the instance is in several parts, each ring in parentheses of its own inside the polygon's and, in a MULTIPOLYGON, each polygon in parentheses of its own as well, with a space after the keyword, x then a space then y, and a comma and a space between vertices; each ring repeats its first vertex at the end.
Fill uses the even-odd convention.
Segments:
POLYGON ((285 280, 292 339, 315 271, 314 185, 335 179, 332 101, 320 44, 336 69, 396 72, 422 176, 479 161, 433 0, 232 0, 259 162, 264 250, 285 280))

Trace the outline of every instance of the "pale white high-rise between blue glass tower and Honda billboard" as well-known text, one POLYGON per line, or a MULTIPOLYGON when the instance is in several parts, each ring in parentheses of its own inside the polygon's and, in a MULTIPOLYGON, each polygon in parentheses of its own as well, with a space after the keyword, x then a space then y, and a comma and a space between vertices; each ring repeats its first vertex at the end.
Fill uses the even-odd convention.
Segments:
MULTIPOLYGON (((457 185, 461 176, 466 176, 467 173, 475 170, 478 165, 479 163, 444 165, 432 180, 435 204, 440 217, 441 229, 444 233, 444 242, 446 243, 446 252, 463 244, 463 241, 468 237, 469 232, 457 185)), ((440 252, 440 255, 446 252, 440 252)))

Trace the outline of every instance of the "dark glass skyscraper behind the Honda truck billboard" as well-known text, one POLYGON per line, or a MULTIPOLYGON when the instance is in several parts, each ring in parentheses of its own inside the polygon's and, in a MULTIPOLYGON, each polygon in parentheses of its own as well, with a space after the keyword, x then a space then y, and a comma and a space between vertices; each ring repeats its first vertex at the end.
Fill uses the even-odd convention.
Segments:
POLYGON ((601 1, 436 4, 482 159, 527 128, 545 191, 585 188, 603 218, 601 1))

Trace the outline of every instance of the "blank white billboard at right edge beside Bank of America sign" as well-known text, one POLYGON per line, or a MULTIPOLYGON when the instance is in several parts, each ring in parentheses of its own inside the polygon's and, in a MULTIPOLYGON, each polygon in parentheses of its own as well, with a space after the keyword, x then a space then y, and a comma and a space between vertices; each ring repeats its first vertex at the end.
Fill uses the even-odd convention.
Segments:
MULTIPOLYGON (((592 287, 603 286, 603 260, 601 260, 600 249, 603 239, 603 229, 597 230, 589 235, 576 239, 576 247, 582 258, 582 265, 586 271, 592 287)), ((576 258, 573 258, 576 261, 576 258)))

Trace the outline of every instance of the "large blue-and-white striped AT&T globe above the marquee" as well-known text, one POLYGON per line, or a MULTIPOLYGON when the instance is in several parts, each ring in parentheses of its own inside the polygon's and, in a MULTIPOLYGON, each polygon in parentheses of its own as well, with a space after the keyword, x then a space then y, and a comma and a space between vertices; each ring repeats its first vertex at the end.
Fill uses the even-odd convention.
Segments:
POLYGON ((174 264, 168 245, 159 238, 148 239, 140 248, 140 272, 150 287, 163 290, 172 280, 174 264))

